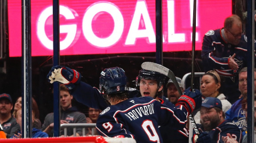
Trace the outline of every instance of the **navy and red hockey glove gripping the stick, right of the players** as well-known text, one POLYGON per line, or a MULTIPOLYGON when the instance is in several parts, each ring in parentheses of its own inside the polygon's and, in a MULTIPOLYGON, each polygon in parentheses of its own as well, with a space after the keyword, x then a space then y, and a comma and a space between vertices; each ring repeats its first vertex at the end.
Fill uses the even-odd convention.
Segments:
POLYGON ((178 99, 177 105, 183 105, 187 108, 189 113, 192 113, 194 110, 198 109, 202 105, 202 94, 198 89, 195 89, 195 92, 190 91, 188 87, 183 95, 178 99))

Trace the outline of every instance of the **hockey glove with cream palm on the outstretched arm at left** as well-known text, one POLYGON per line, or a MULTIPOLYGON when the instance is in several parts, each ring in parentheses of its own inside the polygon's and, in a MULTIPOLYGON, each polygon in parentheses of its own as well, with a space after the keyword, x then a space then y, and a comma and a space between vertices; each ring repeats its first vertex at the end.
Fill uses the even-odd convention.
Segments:
POLYGON ((47 75, 48 82, 58 82, 65 84, 69 89, 73 89, 75 84, 79 84, 81 75, 79 72, 63 66, 53 66, 47 75))

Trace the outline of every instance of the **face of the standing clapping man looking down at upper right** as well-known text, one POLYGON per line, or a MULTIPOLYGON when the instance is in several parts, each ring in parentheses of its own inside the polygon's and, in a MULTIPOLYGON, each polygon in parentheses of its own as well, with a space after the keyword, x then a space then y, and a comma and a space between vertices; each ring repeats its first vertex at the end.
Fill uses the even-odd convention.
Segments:
POLYGON ((225 32, 226 32, 226 36, 227 36, 226 38, 228 42, 233 45, 238 45, 241 40, 241 35, 243 33, 242 23, 240 24, 234 23, 232 25, 232 28, 225 29, 225 32))

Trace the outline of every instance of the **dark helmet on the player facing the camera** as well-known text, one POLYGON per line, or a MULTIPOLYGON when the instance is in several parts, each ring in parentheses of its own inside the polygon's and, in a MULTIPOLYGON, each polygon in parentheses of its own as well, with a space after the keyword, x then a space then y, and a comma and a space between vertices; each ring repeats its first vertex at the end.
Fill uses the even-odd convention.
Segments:
POLYGON ((158 82, 158 88, 160 88, 164 84, 165 80, 165 75, 159 73, 159 72, 154 72, 154 71, 149 71, 145 69, 141 69, 139 71, 139 75, 136 78, 136 87, 139 89, 139 84, 141 79, 145 80, 154 80, 158 82))

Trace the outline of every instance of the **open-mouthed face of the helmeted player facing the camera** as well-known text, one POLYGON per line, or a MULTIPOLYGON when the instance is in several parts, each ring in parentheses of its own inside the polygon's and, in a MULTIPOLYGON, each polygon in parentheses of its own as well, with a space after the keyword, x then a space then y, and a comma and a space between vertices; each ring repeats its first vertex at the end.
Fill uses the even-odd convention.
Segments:
POLYGON ((155 97, 158 91, 161 91, 163 86, 158 89, 158 83, 154 80, 140 80, 140 94, 141 96, 155 97))

